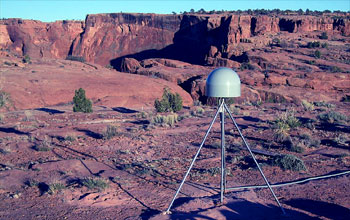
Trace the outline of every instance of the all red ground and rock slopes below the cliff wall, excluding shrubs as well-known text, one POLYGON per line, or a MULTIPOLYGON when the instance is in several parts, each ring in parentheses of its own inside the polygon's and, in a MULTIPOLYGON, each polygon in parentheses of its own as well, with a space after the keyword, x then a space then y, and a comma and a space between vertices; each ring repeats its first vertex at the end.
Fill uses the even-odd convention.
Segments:
MULTIPOLYGON (((261 40, 271 40, 274 36, 265 37, 261 40)), ((322 57, 315 59, 312 55, 315 49, 303 45, 314 40, 316 34, 278 37, 290 40, 294 46, 262 46, 249 51, 251 65, 256 69, 239 74, 244 97, 252 99, 237 104, 237 123, 253 148, 293 154, 304 161, 307 171, 289 171, 266 165, 270 158, 257 155, 271 183, 349 170, 349 120, 323 125, 317 119, 319 114, 330 111, 350 116, 349 102, 341 101, 350 91, 348 38, 339 36, 340 40, 327 41, 328 49, 319 48, 322 57), (264 62, 271 64, 266 68, 268 77, 263 73, 264 62), (341 71, 322 69, 332 66, 341 71), (276 101, 276 97, 287 103, 267 103, 276 101), (257 98, 262 99, 262 105, 253 105, 257 98), (325 101, 333 106, 305 111, 300 105, 303 99, 325 101), (290 131, 292 138, 300 141, 302 134, 309 134, 321 141, 319 147, 304 147, 303 153, 295 153, 273 141, 270 121, 287 109, 294 109, 303 122, 301 127, 290 131), (307 128, 306 121, 310 119, 315 120, 314 127, 307 128)), ((0 51, 0 55, 0 89, 11 94, 13 100, 0 113, 0 219, 348 219, 350 216, 349 175, 274 188, 287 216, 281 215, 267 189, 227 192, 225 203, 219 204, 215 189, 220 182, 220 150, 215 147, 220 140, 218 122, 174 203, 173 214, 164 216, 161 213, 167 209, 202 141, 214 115, 213 108, 204 107, 203 115, 191 116, 196 107, 192 106, 189 93, 159 78, 66 60, 32 59, 32 64, 23 64, 21 57, 6 51, 0 51), (94 102, 91 114, 72 112, 72 97, 79 87, 94 102), (187 107, 178 114, 184 119, 173 127, 149 126, 156 115, 153 102, 165 87, 183 97, 187 107), (101 134, 108 125, 117 126, 118 135, 104 140, 101 134), (70 141, 67 136, 75 140, 70 141), (42 144, 49 151, 35 150, 42 144), (88 189, 81 184, 86 177, 100 177, 109 187, 88 189), (47 187, 57 182, 65 189, 48 193, 47 187)), ((187 77, 183 69, 176 72, 176 68, 161 68, 161 65, 149 71, 173 81, 187 77), (178 75, 174 77, 173 73, 178 75)), ((191 71, 197 74, 197 70, 191 71)), ((203 92, 199 84, 200 79, 198 84, 192 84, 191 94, 203 92)), ((228 186, 263 184, 247 152, 238 148, 241 141, 228 119, 226 133, 228 186)))

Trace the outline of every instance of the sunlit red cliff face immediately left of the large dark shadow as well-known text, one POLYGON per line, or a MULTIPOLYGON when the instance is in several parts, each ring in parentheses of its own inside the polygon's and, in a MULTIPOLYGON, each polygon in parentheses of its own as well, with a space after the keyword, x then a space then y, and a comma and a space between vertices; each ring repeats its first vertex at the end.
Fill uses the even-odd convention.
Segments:
POLYGON ((102 65, 138 53, 138 59, 148 58, 173 43, 180 22, 181 16, 176 15, 87 15, 84 32, 74 41, 71 53, 102 65))

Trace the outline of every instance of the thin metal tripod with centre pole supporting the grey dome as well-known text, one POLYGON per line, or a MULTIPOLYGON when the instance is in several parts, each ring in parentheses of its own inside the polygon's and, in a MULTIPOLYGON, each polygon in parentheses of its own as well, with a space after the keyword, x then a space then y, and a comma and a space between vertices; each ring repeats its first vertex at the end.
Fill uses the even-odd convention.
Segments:
POLYGON ((239 127, 238 127, 236 121, 234 120, 234 118, 233 118, 233 116, 232 116, 232 114, 231 114, 229 108, 227 107, 224 98, 221 98, 221 99, 220 99, 219 108, 218 108, 218 110, 216 111, 216 114, 215 114, 213 120, 211 121, 211 123, 210 123, 210 125, 209 125, 209 128, 208 128, 208 130, 207 130, 207 132, 206 132, 206 134, 205 134, 205 136, 204 136, 204 138, 203 138, 203 141, 202 141, 201 145, 199 146, 199 149, 197 150, 197 153, 196 153, 195 156, 193 157, 193 160, 192 160, 192 162, 191 162, 190 167, 188 168, 188 170, 187 170, 187 172, 186 172, 186 174, 185 174, 185 176, 184 176, 184 178, 183 178, 183 180, 182 180, 182 182, 181 182, 179 188, 177 189, 177 191, 176 191, 176 193, 175 193, 175 195, 174 195, 172 201, 171 201, 170 204, 169 204, 168 209, 164 212, 164 214, 170 214, 170 213, 171 213, 171 212, 170 212, 170 209, 171 209, 171 207, 173 206, 173 203, 174 203, 174 201, 175 201, 177 195, 179 194, 179 192, 180 192, 180 190, 181 190, 183 184, 185 183, 185 180, 186 180, 188 174, 190 173, 190 171, 191 171, 191 169, 192 169, 192 167, 193 167, 193 165, 194 165, 194 162, 196 161, 196 159, 197 159, 197 157, 198 157, 198 155, 199 155, 199 153, 200 153, 200 151, 201 151, 201 149, 202 149, 202 147, 203 147, 203 145, 204 145, 204 142, 205 142, 205 140, 207 139, 207 137, 208 137, 208 135, 209 135, 209 133, 210 133, 210 130, 211 130, 211 128, 213 127, 213 124, 214 124, 216 118, 218 117, 218 114, 219 114, 219 113, 220 113, 220 122, 221 122, 221 181, 220 181, 220 202, 223 203, 223 201, 224 201, 224 193, 225 193, 225 190, 226 190, 226 171, 225 171, 225 170, 226 170, 226 161, 225 161, 225 110, 229 113, 229 116, 230 116, 230 118, 231 118, 233 124, 235 125, 235 127, 236 127, 236 129, 237 129, 239 135, 241 136, 241 138, 242 138, 242 140, 243 140, 243 142, 244 142, 244 145, 247 147, 247 150, 249 151, 249 153, 250 153, 250 155, 252 156, 252 158, 253 158, 253 160, 254 160, 256 166, 258 167, 259 172, 260 172, 261 176, 263 177, 263 179, 264 179, 266 185, 267 185, 268 188, 270 189, 270 191, 271 191, 271 193, 272 193, 274 199, 276 200, 278 206, 281 208, 282 213, 285 214, 285 211, 284 211, 284 209, 283 209, 281 203, 279 202, 279 200, 278 200, 278 198, 276 197, 274 191, 272 190, 272 188, 271 188, 271 186, 270 186, 268 180, 266 179, 266 177, 265 177, 263 171, 261 170, 261 167, 260 167, 259 163, 258 163, 257 160, 255 159, 255 156, 254 156, 253 152, 251 151, 251 149, 250 149, 250 147, 249 147, 249 145, 248 145, 248 142, 245 140, 244 136, 242 135, 242 132, 241 132, 241 130, 239 129, 239 127))

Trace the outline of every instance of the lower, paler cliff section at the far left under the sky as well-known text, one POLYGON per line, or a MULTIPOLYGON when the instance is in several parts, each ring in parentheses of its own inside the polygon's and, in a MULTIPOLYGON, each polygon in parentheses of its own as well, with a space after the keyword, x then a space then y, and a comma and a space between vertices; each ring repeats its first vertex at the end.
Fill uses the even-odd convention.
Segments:
POLYGON ((36 58, 65 58, 84 22, 7 19, 0 21, 0 48, 36 58))

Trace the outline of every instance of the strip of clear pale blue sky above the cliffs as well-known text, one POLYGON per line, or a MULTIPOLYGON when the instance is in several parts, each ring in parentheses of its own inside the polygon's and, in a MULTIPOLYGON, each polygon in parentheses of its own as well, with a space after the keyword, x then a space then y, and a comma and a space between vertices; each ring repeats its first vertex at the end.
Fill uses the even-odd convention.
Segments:
POLYGON ((291 9, 350 11, 350 0, 0 0, 0 18, 41 21, 84 20, 86 14, 174 12, 246 9, 291 9))

